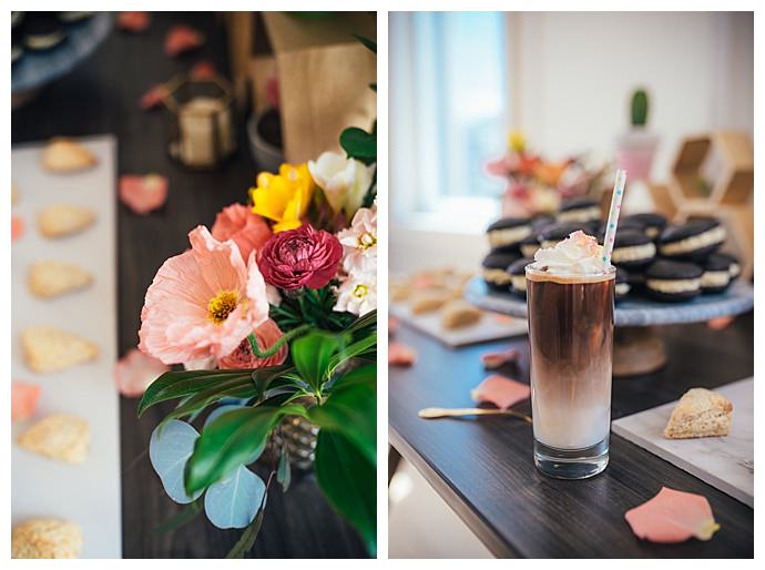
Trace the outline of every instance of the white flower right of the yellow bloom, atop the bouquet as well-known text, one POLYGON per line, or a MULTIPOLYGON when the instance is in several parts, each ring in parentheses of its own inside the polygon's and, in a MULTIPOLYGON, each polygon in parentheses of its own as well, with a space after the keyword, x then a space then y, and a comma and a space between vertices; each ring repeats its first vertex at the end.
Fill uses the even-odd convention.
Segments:
POLYGON ((324 191, 335 212, 345 210, 351 216, 361 207, 369 190, 375 165, 367 166, 355 159, 346 159, 336 152, 323 153, 316 162, 308 161, 314 182, 324 191))

